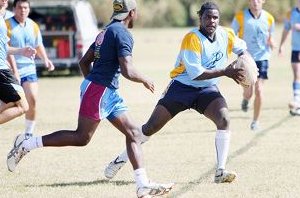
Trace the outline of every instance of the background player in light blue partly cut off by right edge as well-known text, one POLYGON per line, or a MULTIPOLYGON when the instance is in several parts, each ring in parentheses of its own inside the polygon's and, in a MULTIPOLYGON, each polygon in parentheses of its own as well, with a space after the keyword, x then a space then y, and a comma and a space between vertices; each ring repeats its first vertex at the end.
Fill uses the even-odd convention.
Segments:
POLYGON ((292 85, 294 98, 290 102, 289 107, 292 115, 300 115, 300 0, 298 0, 297 5, 287 14, 287 18, 284 20, 279 54, 282 54, 282 45, 290 31, 292 31, 291 63, 294 76, 292 85))

